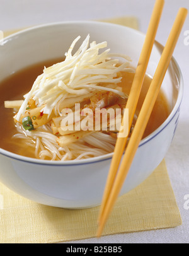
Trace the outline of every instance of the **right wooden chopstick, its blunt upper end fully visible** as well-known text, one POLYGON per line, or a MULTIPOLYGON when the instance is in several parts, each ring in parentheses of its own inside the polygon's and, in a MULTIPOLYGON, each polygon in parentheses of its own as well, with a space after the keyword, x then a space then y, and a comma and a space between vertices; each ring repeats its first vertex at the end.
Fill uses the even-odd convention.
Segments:
POLYGON ((134 130, 130 136, 129 144, 125 150, 125 154, 123 156, 122 163, 120 164, 117 177, 113 183, 112 190, 103 209, 103 214, 100 218, 100 224, 97 231, 98 237, 101 236, 106 220, 112 211, 113 205, 122 188, 123 182, 127 177, 127 173, 129 172, 130 165, 132 164, 135 152, 137 151, 140 140, 142 139, 142 135, 146 129, 147 122, 151 115, 152 108, 154 107, 154 103, 156 102, 161 84, 163 83, 164 76, 168 69, 169 62, 171 61, 171 57, 173 55, 173 51, 175 49, 176 42, 178 41, 178 37, 185 22, 187 13, 187 9, 180 8, 178 15, 176 16, 175 23, 173 24, 169 34, 168 40, 161 55, 161 59, 157 65, 157 69, 154 77, 152 78, 151 85, 149 86, 149 90, 147 91, 146 98, 140 110, 134 130))

